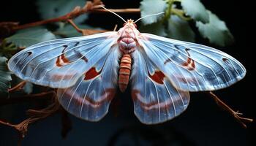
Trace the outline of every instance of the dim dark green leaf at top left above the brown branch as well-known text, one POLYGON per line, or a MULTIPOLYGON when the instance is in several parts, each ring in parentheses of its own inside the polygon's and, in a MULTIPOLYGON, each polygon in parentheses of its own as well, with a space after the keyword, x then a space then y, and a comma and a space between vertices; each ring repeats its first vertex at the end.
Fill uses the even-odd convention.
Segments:
MULTIPOLYGON (((37 0, 39 13, 42 19, 56 18, 71 12, 76 6, 84 7, 86 0, 37 0)), ((87 15, 80 15, 75 23, 86 20, 87 15)))

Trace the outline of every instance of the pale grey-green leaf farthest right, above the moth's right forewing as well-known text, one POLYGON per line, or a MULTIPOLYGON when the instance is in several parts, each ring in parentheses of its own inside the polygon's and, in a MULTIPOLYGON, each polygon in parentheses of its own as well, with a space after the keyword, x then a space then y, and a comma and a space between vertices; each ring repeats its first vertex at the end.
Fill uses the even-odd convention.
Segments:
POLYGON ((234 42, 233 35, 230 33, 224 21, 219 20, 217 15, 208 11, 209 23, 197 22, 196 26, 204 38, 208 38, 212 44, 225 46, 234 42))

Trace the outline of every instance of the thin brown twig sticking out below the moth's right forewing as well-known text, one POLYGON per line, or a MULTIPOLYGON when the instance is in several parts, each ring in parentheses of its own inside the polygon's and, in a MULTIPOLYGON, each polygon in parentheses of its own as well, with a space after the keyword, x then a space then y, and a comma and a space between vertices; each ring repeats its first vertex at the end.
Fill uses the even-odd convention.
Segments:
POLYGON ((230 115, 233 116, 233 118, 235 118, 238 123, 241 123, 241 126, 243 126, 244 128, 246 128, 246 123, 252 123, 252 119, 251 118, 243 118, 240 115, 243 115, 240 112, 235 112, 234 110, 232 110, 230 107, 227 106, 227 104, 225 104, 222 100, 220 100, 218 98, 217 95, 215 95, 212 92, 208 92, 209 95, 214 99, 214 101, 219 105, 219 107, 221 107, 222 109, 226 110, 227 112, 230 113, 230 115))

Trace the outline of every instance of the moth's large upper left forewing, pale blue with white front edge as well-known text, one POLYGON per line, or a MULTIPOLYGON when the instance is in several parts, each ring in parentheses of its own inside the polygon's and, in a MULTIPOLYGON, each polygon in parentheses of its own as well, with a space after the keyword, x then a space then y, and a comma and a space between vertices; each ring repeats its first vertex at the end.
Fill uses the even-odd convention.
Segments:
POLYGON ((115 35, 107 32, 42 42, 13 55, 8 66, 22 80, 67 88, 110 51, 115 35))

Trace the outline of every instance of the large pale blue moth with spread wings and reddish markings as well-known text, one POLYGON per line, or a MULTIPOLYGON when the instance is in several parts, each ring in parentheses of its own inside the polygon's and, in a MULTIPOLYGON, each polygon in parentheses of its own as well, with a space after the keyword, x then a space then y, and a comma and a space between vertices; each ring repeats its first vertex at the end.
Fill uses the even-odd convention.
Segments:
POLYGON ((189 92, 226 88, 246 74, 222 51, 140 33, 137 21, 124 20, 118 31, 32 45, 10 58, 9 69, 23 80, 58 88, 62 107, 90 121, 101 120, 116 92, 130 85, 135 115, 146 124, 180 115, 189 92))

